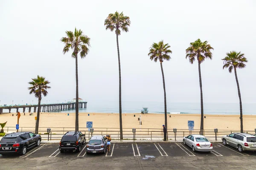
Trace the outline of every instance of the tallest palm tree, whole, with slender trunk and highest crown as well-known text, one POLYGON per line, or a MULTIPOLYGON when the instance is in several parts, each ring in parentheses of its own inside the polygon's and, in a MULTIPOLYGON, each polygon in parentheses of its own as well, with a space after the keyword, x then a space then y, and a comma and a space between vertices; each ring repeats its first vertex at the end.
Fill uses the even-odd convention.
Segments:
POLYGON ((108 14, 107 19, 105 20, 104 25, 106 30, 114 31, 116 33, 116 45, 117 45, 117 54, 118 54, 118 66, 119 66, 119 124, 120 124, 120 139, 123 139, 122 133, 122 100, 121 100, 121 65, 120 65, 120 54, 119 54, 119 43, 118 36, 121 34, 121 30, 128 32, 128 26, 130 26, 130 18, 124 16, 121 12, 120 14, 116 11, 114 14, 108 14))

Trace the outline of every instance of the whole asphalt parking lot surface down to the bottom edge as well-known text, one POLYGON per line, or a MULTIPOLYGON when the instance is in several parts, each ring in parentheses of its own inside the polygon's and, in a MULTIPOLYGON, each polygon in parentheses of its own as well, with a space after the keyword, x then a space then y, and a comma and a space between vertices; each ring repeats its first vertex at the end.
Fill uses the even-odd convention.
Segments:
POLYGON ((105 154, 86 154, 86 145, 79 153, 60 153, 58 144, 41 144, 23 156, 1 156, 1 169, 256 169, 256 152, 239 153, 221 143, 213 151, 192 152, 182 143, 115 143, 105 154))

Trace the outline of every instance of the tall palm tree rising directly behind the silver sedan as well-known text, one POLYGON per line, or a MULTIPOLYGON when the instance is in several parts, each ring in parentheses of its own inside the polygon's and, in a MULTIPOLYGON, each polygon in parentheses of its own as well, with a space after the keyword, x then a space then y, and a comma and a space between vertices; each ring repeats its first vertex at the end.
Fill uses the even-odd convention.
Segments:
POLYGON ((189 48, 186 49, 186 58, 189 58, 189 62, 193 64, 195 59, 198 61, 199 83, 200 83, 200 96, 201 96, 201 125, 200 134, 204 134, 204 104, 203 104, 203 90, 202 90, 202 78, 201 78, 201 63, 205 59, 212 59, 213 48, 207 44, 208 41, 202 42, 200 39, 195 42, 191 42, 189 48))

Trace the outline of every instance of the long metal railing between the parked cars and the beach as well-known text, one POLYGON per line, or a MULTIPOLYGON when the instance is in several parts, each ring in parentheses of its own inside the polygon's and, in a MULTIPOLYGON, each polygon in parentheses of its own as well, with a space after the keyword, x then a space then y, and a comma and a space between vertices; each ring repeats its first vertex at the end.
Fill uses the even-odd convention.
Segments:
MULTIPOLYGON (((42 136, 42 139, 48 140, 47 128, 49 127, 39 127, 38 133, 42 136)), ((61 137, 67 131, 74 131, 74 127, 50 127, 51 132, 49 133, 49 140, 60 140, 61 137)), ((112 139, 120 140, 120 131, 119 128, 103 128, 103 127, 93 127, 93 133, 88 131, 86 127, 80 127, 79 131, 85 134, 86 139, 90 139, 92 135, 111 135, 112 139)), ((16 132, 16 127, 4 127, 5 132, 16 132)), ((19 127, 20 132, 25 131, 35 131, 35 127, 19 127)), ((214 130, 204 130, 204 136, 206 137, 215 137, 220 138, 221 136, 228 135, 230 133, 239 133, 240 130, 218 130, 215 133, 214 130)), ((254 130, 244 130, 244 133, 255 134, 254 130)), ((199 129, 193 131, 187 129, 177 129, 177 132, 174 133, 172 129, 168 129, 168 139, 183 138, 189 134, 200 134, 199 129)), ((123 128, 123 140, 133 140, 133 131, 132 128, 123 128)), ((155 128, 138 128, 135 133, 136 140, 156 140, 163 139, 163 129, 155 128)))

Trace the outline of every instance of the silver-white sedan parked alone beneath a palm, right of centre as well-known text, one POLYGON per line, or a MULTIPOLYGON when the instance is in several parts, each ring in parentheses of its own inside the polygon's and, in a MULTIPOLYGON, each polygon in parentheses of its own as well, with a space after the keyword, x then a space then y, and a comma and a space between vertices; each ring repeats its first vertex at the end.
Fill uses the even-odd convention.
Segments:
POLYGON ((189 135, 183 138, 183 144, 192 147, 193 152, 196 151, 212 151, 212 144, 203 135, 189 135))

